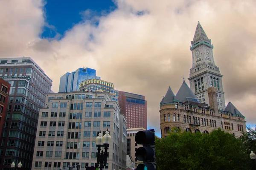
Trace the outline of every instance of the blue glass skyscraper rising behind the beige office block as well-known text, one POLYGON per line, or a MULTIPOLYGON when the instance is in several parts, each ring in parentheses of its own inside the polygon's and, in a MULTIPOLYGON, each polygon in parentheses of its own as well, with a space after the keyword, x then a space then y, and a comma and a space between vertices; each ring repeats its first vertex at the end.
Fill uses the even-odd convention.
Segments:
POLYGON ((59 92, 66 93, 79 90, 79 84, 86 79, 100 79, 96 76, 96 70, 92 68, 79 68, 72 73, 61 76, 59 92))

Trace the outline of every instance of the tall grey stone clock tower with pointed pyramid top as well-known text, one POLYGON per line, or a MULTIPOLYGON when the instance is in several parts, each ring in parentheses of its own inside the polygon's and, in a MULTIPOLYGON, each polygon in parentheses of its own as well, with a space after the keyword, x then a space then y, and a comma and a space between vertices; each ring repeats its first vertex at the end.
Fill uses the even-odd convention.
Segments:
POLYGON ((207 89, 215 87, 217 90, 218 108, 224 111, 225 99, 222 75, 219 68, 215 65, 211 42, 198 21, 194 38, 191 41, 192 46, 190 47, 192 51, 192 68, 189 74, 189 84, 191 90, 201 103, 207 103, 208 105, 207 89))

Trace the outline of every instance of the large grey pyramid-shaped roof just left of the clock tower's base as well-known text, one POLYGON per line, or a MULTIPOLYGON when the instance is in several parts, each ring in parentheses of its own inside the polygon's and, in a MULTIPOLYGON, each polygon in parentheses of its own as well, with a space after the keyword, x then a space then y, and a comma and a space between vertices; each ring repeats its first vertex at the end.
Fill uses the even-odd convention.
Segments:
POLYGON ((176 96, 174 97, 174 100, 180 101, 180 102, 185 102, 187 100, 193 101, 193 102, 198 102, 201 103, 193 91, 189 88, 189 86, 186 84, 185 79, 183 79, 183 83, 180 86, 179 91, 177 92, 176 96))

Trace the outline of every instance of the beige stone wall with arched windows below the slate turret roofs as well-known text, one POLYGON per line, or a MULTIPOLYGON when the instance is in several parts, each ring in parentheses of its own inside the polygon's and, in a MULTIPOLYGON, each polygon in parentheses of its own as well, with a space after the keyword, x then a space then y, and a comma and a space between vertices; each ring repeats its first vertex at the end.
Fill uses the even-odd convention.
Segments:
MULTIPOLYGON (((185 105, 185 104, 184 104, 185 105)), ((246 125, 243 118, 240 118, 240 120, 236 116, 230 116, 225 114, 220 114, 220 116, 212 115, 212 110, 207 108, 205 109, 205 112, 203 112, 201 107, 197 107, 197 112, 194 112, 193 109, 188 111, 185 110, 185 106, 178 105, 177 108, 175 108, 175 104, 167 104, 167 105, 161 105, 160 106, 160 128, 161 128, 161 137, 164 138, 165 136, 168 136, 169 133, 165 133, 166 127, 179 127, 182 131, 186 130, 186 128, 190 128, 192 132, 195 132, 196 129, 200 130, 201 133, 203 133, 205 130, 208 132, 211 132, 212 130, 218 129, 219 127, 226 132, 229 132, 231 134, 234 134, 235 136, 239 137, 242 135, 242 131, 246 131, 246 125), (210 112, 211 111, 211 112, 210 112), (166 121, 164 121, 164 114, 166 115, 166 121), (170 119, 168 120, 168 114, 170 114, 170 119), (175 121, 173 118, 173 114, 175 114, 175 121), (184 122, 184 115, 185 116, 191 116, 191 123, 193 123, 192 114, 194 117, 200 118, 200 125, 193 126, 190 123, 184 122), (177 120, 177 115, 179 115, 179 121, 177 120), (202 124, 202 120, 206 119, 206 125, 202 124), (208 120, 208 126, 207 126, 207 120, 208 120), (214 127, 211 127, 211 124, 209 120, 213 120, 214 127), (215 127, 216 122, 216 127, 215 127), (222 125, 221 125, 222 122, 222 125), (226 125, 227 124, 227 125, 226 125), (232 128, 233 125, 233 128, 232 128), (241 131, 238 129, 238 125, 242 127, 241 131), (226 126, 226 129, 225 129, 226 126), (230 128, 230 129, 229 129, 230 128)))

